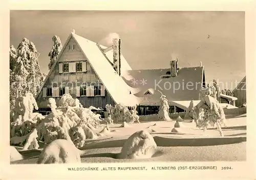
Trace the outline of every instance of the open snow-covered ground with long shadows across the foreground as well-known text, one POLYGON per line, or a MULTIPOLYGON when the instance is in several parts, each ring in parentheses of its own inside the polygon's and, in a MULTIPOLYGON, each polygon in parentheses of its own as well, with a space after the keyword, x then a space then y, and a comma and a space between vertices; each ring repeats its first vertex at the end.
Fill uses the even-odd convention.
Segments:
MULTIPOLYGON (((224 137, 220 137, 217 128, 208 128, 207 135, 195 127, 194 122, 185 120, 179 133, 171 133, 176 121, 149 121, 140 124, 109 124, 110 131, 96 140, 86 140, 86 149, 81 156, 82 163, 114 163, 141 161, 246 161, 246 115, 227 116, 227 127, 223 127, 224 137), (150 159, 116 159, 125 140, 133 133, 146 130, 154 137, 157 152, 150 159)), ((98 128, 100 132, 105 125, 98 128)), ((39 144, 40 145, 40 144, 39 144)), ((18 148, 17 148, 18 149, 18 148)), ((19 151, 24 160, 11 164, 35 164, 42 149, 19 151)))

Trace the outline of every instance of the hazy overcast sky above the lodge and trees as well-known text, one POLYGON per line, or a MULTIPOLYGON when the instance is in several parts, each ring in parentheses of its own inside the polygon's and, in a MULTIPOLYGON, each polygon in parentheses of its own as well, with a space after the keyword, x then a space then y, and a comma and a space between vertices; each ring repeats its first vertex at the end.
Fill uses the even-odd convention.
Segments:
POLYGON ((102 39, 117 33, 133 69, 168 68, 176 57, 180 67, 201 61, 207 82, 215 78, 233 89, 245 76, 244 23, 244 12, 11 11, 10 44, 17 47, 23 37, 32 41, 41 70, 48 73, 53 35, 63 45, 75 29, 106 45, 102 39))

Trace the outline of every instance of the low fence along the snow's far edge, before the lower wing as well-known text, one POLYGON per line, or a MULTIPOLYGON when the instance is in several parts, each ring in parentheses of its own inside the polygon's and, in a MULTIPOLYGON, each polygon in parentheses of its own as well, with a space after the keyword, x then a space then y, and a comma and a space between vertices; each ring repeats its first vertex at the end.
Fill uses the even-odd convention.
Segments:
MULTIPOLYGON (((246 108, 234 108, 234 109, 223 109, 225 115, 240 115, 240 114, 245 114, 246 113, 246 108)), ((181 118, 184 118, 186 112, 181 112, 181 113, 171 113, 169 114, 169 117, 171 119, 176 119, 179 116, 181 118)), ((151 114, 151 115, 143 115, 139 116, 140 121, 156 121, 158 119, 157 114, 151 114)))

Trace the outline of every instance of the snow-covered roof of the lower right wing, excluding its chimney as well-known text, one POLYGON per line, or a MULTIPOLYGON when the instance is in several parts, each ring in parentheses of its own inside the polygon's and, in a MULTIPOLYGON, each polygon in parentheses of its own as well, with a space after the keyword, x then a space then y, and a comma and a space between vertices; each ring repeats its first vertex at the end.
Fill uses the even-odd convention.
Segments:
POLYGON ((163 78, 168 71, 169 68, 128 70, 123 74, 123 80, 137 90, 134 95, 140 99, 140 105, 143 106, 159 106, 161 93, 158 90, 166 95, 169 105, 172 105, 172 101, 199 100, 203 66, 181 68, 176 77, 163 78), (148 89, 153 89, 154 93, 145 94, 148 89))

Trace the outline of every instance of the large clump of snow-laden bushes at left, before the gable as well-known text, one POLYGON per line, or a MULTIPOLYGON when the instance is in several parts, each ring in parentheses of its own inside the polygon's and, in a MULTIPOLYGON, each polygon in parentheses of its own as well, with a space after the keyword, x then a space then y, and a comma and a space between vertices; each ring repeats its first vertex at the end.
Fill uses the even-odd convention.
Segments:
POLYGON ((63 95, 60 102, 63 106, 57 107, 55 99, 49 98, 52 113, 44 117, 32 113, 37 105, 31 93, 17 98, 16 107, 10 112, 11 144, 27 142, 24 148, 38 148, 39 140, 49 144, 56 139, 66 139, 81 147, 85 139, 97 138, 93 130, 100 125, 99 115, 82 108, 79 100, 70 94, 63 95))

